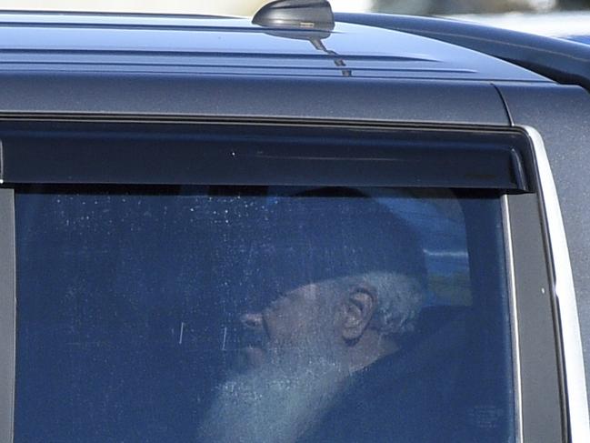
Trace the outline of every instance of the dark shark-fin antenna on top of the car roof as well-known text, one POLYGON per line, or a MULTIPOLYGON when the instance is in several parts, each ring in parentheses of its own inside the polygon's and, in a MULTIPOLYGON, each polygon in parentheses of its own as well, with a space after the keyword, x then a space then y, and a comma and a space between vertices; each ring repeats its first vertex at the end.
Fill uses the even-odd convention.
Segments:
POLYGON ((332 6, 325 0, 275 0, 260 8, 252 23, 275 29, 329 33, 334 29, 334 14, 332 6))

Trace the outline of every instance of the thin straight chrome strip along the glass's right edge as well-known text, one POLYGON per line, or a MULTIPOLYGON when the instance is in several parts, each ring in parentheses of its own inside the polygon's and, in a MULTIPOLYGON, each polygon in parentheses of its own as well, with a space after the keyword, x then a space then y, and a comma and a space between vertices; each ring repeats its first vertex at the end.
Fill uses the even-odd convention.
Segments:
POLYGON ((505 263, 508 283, 508 300, 510 309, 510 336, 512 337, 513 384, 515 391, 515 436, 516 442, 525 441, 523 429, 523 384, 520 361, 520 340, 518 335, 518 309, 516 306, 515 260, 510 227, 510 208, 508 196, 502 196, 502 216, 505 237, 505 263))

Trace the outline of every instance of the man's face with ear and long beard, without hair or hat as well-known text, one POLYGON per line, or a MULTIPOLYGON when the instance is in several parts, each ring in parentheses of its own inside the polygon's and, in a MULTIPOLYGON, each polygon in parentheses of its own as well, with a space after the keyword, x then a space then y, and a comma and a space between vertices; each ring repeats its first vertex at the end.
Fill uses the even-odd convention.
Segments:
POLYGON ((384 354, 385 340, 369 327, 375 304, 368 284, 324 280, 243 315, 263 339, 245 349, 247 369, 222 386, 202 428, 204 441, 297 441, 346 379, 384 354))

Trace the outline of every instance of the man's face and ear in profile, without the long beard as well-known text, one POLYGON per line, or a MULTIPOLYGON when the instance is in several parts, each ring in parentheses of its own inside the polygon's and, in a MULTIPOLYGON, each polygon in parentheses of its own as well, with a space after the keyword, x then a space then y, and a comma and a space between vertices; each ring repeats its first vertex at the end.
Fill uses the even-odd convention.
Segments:
POLYGON ((363 367, 384 351, 385 341, 369 327, 376 305, 375 288, 358 282, 325 280, 288 291, 242 316, 245 327, 262 337, 245 348, 247 366, 322 358, 343 371, 363 367))

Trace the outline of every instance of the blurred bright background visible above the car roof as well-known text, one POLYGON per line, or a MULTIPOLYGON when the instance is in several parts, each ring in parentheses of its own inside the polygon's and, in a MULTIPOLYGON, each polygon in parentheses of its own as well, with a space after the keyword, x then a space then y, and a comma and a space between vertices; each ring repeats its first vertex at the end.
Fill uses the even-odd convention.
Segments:
MULTIPOLYGON (((252 16, 270 0, 0 0, 0 10, 142 12, 252 16)), ((590 0, 330 0, 335 11, 453 15, 590 43, 590 0)))

